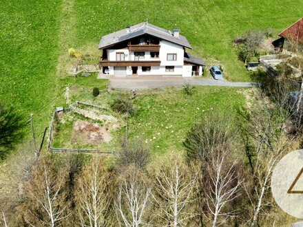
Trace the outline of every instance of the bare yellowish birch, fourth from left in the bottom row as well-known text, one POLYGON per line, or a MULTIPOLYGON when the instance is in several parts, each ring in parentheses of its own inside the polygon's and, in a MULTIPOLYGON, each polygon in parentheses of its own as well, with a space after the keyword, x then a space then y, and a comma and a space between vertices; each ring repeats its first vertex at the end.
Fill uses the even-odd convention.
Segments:
POLYGON ((189 219, 196 215, 192 205, 197 173, 191 173, 176 153, 171 153, 169 158, 162 160, 150 172, 155 180, 154 199, 156 207, 160 208, 160 217, 164 220, 162 225, 187 226, 189 219))

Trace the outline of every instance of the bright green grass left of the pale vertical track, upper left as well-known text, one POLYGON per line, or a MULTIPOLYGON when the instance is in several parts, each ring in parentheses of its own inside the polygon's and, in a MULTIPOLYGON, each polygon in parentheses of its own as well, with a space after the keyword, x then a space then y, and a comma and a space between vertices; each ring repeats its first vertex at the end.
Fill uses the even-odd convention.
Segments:
MULTIPOLYGON (((56 96, 61 0, 0 4, 0 101, 25 118, 34 114, 37 133, 50 120, 56 96)), ((30 130, 30 127, 28 127, 30 130)))

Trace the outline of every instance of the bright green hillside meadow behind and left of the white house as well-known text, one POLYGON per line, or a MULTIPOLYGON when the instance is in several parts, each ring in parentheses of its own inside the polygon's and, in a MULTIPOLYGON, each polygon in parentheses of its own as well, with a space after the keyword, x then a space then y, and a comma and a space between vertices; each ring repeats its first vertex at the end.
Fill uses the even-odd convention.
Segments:
MULTIPOLYGON (((66 105, 65 87, 99 86, 97 80, 86 84, 85 78, 65 78, 68 48, 98 61, 101 36, 146 19, 169 30, 180 28, 194 48, 191 52, 204 58, 208 67, 218 63, 229 80, 247 81, 249 74, 231 41, 247 30, 274 28, 278 33, 302 17, 302 7, 302 0, 5 1, 0 5, 0 100, 25 118, 34 114, 41 138, 54 107, 66 105)), ((211 102, 209 94, 201 99, 211 102)))

